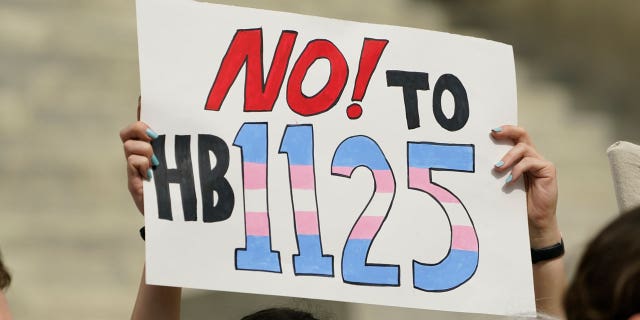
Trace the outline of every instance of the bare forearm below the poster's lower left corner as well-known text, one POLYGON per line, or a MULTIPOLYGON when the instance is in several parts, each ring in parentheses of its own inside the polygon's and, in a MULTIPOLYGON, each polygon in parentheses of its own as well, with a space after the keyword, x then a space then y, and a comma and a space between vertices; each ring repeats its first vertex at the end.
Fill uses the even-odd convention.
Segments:
POLYGON ((179 320, 182 288, 146 284, 143 269, 132 320, 179 320))

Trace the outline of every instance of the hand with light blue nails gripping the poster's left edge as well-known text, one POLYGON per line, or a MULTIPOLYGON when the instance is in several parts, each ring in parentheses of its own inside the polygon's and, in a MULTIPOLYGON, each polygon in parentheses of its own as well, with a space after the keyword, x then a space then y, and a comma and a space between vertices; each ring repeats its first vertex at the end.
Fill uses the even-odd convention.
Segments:
POLYGON ((127 159, 129 193, 142 214, 144 214, 142 179, 151 179, 153 175, 151 167, 158 165, 158 159, 151 147, 151 140, 157 137, 158 135, 141 121, 136 121, 120 130, 124 156, 127 159))

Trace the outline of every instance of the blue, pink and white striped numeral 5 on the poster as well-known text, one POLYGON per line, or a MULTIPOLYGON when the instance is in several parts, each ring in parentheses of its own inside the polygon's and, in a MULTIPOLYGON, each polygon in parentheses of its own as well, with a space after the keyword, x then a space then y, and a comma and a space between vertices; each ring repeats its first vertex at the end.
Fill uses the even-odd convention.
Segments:
POLYGON ((413 285, 424 291, 448 291, 469 280, 478 267, 478 236, 465 206, 451 191, 432 181, 432 171, 474 172, 474 146, 409 142, 409 188, 431 195, 451 224, 449 254, 436 264, 413 261, 413 285))

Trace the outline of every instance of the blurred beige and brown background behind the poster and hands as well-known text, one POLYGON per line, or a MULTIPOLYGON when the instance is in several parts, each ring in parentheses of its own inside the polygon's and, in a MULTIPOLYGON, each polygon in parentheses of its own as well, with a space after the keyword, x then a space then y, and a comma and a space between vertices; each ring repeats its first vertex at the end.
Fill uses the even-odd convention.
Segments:
MULTIPOLYGON (((459 33, 514 46, 520 124, 556 163, 569 273, 617 214, 606 148, 640 141, 640 2, 215 1, 459 33)), ((143 265, 118 131, 139 95, 132 0, 0 2, 0 249, 16 319, 124 319, 143 265)), ((488 130, 489 128, 487 128, 488 130)), ((495 319, 189 290, 184 319, 261 306, 326 319, 495 319)))

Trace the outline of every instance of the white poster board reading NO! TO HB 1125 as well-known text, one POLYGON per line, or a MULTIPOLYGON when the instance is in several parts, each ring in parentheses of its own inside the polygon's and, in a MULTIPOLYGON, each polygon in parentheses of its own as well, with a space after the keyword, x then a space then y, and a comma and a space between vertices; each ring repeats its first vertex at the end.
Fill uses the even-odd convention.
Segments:
POLYGON ((450 311, 535 310, 508 45, 138 0, 150 284, 450 311))

